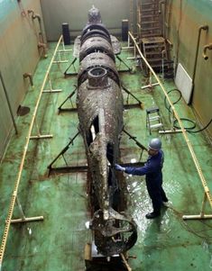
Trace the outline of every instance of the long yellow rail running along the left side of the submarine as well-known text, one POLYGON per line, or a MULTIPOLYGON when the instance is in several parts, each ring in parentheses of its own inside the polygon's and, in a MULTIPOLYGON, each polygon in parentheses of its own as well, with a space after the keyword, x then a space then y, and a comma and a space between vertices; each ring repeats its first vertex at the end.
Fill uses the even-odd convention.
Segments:
POLYGON ((18 194, 18 187, 19 187, 21 177, 22 177, 23 165, 24 165, 24 161, 25 161, 25 157, 26 157, 26 152, 27 152, 27 149, 28 149, 28 146, 29 146, 31 134, 32 134, 33 124, 34 124, 34 121, 35 121, 36 113, 38 111, 38 106, 39 106, 40 101, 41 101, 42 91, 43 91, 44 86, 46 84, 46 80, 47 80, 47 78, 49 76, 49 73, 50 73, 50 70, 51 70, 51 65, 52 65, 53 59, 55 58, 57 50, 59 48, 61 39, 62 39, 62 36, 60 36, 60 40, 58 41, 58 44, 57 44, 57 46, 56 46, 56 48, 54 50, 53 56, 51 58, 49 68, 47 69, 46 75, 45 75, 45 77, 43 79, 43 82, 42 82, 42 85, 41 85, 41 91, 40 91, 40 94, 38 96, 38 100, 37 100, 37 103, 35 105, 34 112, 32 114, 32 122, 30 124, 28 135, 26 137, 26 143, 25 143, 25 146, 23 148, 23 157, 22 157, 22 160, 21 160, 21 164, 20 164, 20 167, 19 167, 17 178, 16 178, 15 183, 14 183, 14 192, 13 192, 11 202, 10 202, 10 205, 9 205, 9 212, 8 212, 8 215, 7 215, 7 218, 6 218, 6 221, 5 221, 5 231, 4 231, 4 234, 3 234, 2 244, 1 244, 1 248, 0 248, 0 270, 2 268, 3 258, 4 258, 4 254, 5 254, 6 241, 7 241, 7 238, 8 238, 8 234, 9 234, 9 230, 10 230, 10 224, 11 224, 12 216, 13 216, 13 213, 14 213, 14 203, 15 203, 15 200, 16 200, 17 194, 18 194))

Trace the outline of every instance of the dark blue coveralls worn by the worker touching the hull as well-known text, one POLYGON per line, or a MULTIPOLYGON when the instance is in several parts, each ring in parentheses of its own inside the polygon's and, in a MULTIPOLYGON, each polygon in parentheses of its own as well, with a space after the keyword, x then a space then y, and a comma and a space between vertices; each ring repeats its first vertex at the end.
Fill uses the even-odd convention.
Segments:
POLYGON ((162 165, 164 155, 160 149, 155 156, 149 156, 143 167, 125 167, 125 173, 143 176, 145 175, 147 191, 152 199, 153 212, 161 212, 162 202, 168 202, 162 189, 162 165))

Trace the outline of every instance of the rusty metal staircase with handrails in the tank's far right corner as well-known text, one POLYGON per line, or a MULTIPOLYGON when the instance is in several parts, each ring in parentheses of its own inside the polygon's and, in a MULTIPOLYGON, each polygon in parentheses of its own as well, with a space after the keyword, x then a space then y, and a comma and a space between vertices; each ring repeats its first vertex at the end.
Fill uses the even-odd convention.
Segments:
MULTIPOLYGON (((143 55, 155 72, 162 77, 173 77, 173 61, 168 54, 169 45, 162 37, 163 23, 160 13, 160 0, 138 0, 137 32, 143 55)), ((163 31, 164 32, 164 31, 163 31)), ((149 70, 144 66, 146 74, 149 70)))

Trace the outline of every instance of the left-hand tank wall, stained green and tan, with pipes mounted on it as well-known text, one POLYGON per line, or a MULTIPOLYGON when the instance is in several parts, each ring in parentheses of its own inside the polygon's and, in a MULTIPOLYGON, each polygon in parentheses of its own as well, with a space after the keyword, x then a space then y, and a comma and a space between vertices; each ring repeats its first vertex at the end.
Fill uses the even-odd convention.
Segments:
MULTIPOLYGON (((24 73, 33 73, 40 59, 38 51, 39 23, 32 22, 32 15, 41 14, 39 0, 0 1, 0 63, 6 92, 10 100, 14 117, 19 104, 30 86, 28 79, 23 79, 24 73)), ((11 131, 14 131, 11 114, 5 99, 5 92, 0 82, 0 159, 11 131)))

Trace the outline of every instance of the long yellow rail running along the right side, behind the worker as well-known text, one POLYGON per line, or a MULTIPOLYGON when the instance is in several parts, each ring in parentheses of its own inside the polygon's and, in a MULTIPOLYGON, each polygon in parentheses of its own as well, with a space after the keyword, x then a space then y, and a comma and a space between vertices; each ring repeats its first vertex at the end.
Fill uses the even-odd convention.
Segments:
POLYGON ((148 61, 144 58, 143 53, 142 53, 142 51, 140 50, 140 48, 138 47, 138 45, 137 45, 137 43, 136 43, 136 41, 135 41, 135 39, 134 39, 133 34, 132 34, 131 32, 128 32, 128 34, 129 34, 130 38, 132 39, 132 41, 134 41, 134 46, 135 46, 136 49, 138 50, 138 53, 139 53, 140 57, 141 57, 141 58, 143 59, 143 61, 145 62, 146 66, 151 70, 152 75, 153 75, 153 76, 156 78, 156 80, 158 81, 158 84, 161 86, 161 89, 162 89, 162 91, 163 91, 163 94, 166 96, 167 101, 168 101, 169 104, 171 105, 171 109, 172 109, 172 111, 173 111, 173 113, 174 113, 174 116, 176 117, 176 119, 177 119, 178 122, 179 122, 180 129, 181 129, 181 131, 182 131, 182 134, 183 134, 183 136, 184 136, 184 139, 185 139, 185 141, 186 141, 186 143, 187 143, 187 146, 188 146, 188 148, 189 148, 189 152, 190 152, 191 158, 193 159, 193 162, 194 162, 194 164, 195 164, 195 167, 196 167, 197 170, 198 170, 198 176, 199 176, 199 178, 200 178, 200 180, 201 180, 201 182, 202 182, 203 188, 204 188, 205 193, 206 193, 206 195, 207 195, 207 200, 208 200, 208 202, 209 202, 209 204, 210 204, 210 206, 211 206, 211 208, 212 208, 212 195, 210 194, 209 188, 208 188, 208 186, 207 186, 207 181, 206 181, 205 177, 203 176, 203 173, 202 173, 202 171, 201 171, 201 167, 200 167, 199 164, 198 164, 198 158, 196 157, 195 152, 194 152, 194 149, 192 148, 192 146, 191 146, 191 144, 190 144, 190 141, 189 141, 189 138, 188 138, 188 135, 187 135, 187 131, 184 129, 184 127, 183 127, 183 125, 182 125, 182 122, 180 121, 180 117, 179 117, 178 113, 176 112, 176 110, 175 110, 175 108, 174 108, 174 105, 171 103, 171 100, 170 100, 169 95, 167 94, 167 92, 166 92, 164 86, 162 86, 161 80, 160 80, 159 77, 155 74, 154 70, 152 69, 152 67, 150 66, 150 64, 148 63, 148 61))

